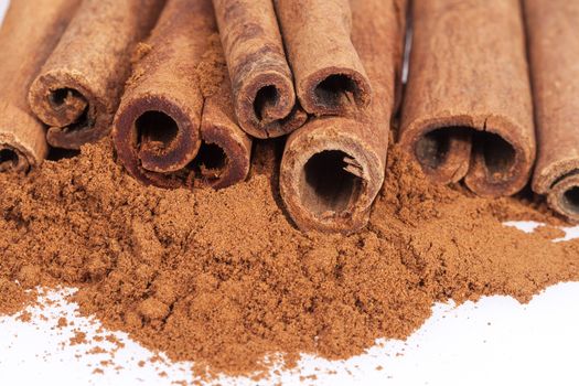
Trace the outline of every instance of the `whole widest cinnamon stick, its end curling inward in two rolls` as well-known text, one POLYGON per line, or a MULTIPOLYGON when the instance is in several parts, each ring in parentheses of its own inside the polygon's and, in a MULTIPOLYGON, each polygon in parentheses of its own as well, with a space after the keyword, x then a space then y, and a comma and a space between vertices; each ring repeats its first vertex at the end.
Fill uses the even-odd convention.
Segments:
POLYGON ((415 1, 399 141, 441 183, 511 195, 535 133, 518 0, 415 1))

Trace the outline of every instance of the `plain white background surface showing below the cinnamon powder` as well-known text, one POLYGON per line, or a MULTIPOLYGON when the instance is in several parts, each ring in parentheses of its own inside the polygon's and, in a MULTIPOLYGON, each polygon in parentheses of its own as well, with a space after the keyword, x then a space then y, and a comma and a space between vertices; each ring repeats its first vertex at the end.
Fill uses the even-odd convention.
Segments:
MULTIPOLYGON (((7 3, 0 0, 0 14, 7 3)), ((525 228, 533 228, 533 224, 525 228)), ((569 229, 568 236, 579 237, 579 228, 569 229)), ((30 309, 31 322, 19 321, 18 315, 0 318, 0 385, 171 385, 192 380, 191 363, 151 363, 153 353, 122 333, 116 335, 125 347, 114 355, 110 350, 115 345, 107 342, 71 345, 75 329, 89 339, 107 333, 97 332, 98 321, 76 315, 76 305, 62 300, 68 291, 46 293, 56 301, 43 310, 30 309), (74 326, 56 329, 63 315, 74 321, 74 326), (109 352, 87 353, 97 345, 109 352), (101 361, 112 364, 104 366, 101 361), (94 374, 95 368, 104 374, 94 374)), ((307 356, 298 369, 260 384, 578 385, 579 283, 551 287, 525 305, 505 297, 458 308, 437 304, 432 318, 406 342, 378 343, 346 362, 307 356), (300 376, 312 374, 317 379, 300 380, 300 376)), ((255 384, 247 378, 218 380, 255 384)))

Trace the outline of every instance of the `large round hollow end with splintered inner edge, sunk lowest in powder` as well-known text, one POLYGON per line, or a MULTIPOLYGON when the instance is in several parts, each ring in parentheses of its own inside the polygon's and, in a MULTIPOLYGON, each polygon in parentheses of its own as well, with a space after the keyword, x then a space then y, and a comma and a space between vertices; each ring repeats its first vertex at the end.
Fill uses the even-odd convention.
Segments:
POLYGON ((355 135, 364 131, 356 129, 360 125, 320 118, 289 137, 280 193, 300 229, 349 234, 367 223, 384 181, 384 162, 355 135))

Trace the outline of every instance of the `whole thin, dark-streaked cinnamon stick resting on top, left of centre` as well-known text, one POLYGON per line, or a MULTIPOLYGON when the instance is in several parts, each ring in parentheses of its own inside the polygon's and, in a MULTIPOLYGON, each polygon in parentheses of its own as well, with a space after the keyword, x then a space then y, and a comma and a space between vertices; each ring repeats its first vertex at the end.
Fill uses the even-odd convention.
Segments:
POLYGON ((293 76, 271 0, 213 0, 239 126, 257 138, 287 135, 307 114, 296 104, 293 76))

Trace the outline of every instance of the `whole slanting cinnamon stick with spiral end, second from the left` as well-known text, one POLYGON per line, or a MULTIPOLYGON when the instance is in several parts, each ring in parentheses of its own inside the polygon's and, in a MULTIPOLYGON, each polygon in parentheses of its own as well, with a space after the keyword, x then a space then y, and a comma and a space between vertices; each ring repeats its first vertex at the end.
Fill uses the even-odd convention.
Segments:
POLYGON ((84 0, 30 89, 51 146, 78 149, 110 131, 136 43, 164 0, 84 0))

